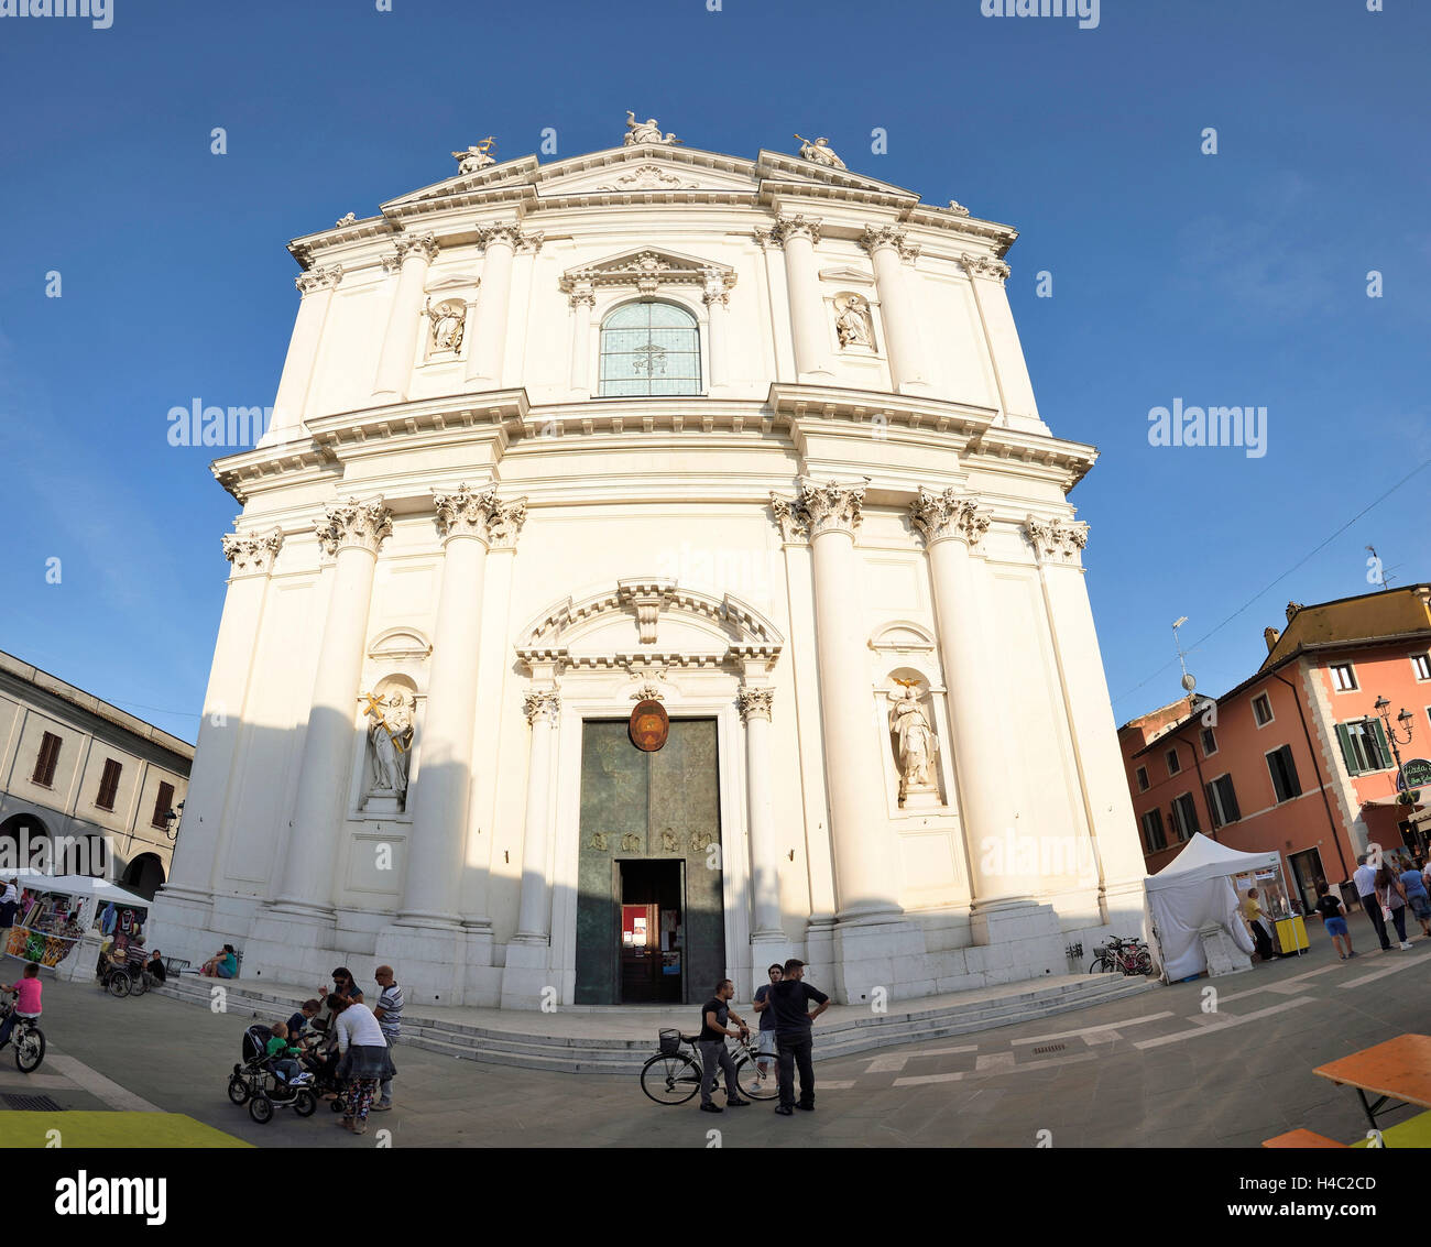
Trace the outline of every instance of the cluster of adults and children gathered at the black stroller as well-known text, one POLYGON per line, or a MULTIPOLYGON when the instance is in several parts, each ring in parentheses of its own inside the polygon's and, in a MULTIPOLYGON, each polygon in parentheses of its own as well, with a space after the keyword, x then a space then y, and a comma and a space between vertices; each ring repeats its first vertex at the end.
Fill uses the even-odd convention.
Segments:
MULTIPOLYGON (((369 1007, 352 972, 339 965, 331 988, 321 984, 316 997, 303 1001, 286 1022, 269 1028, 266 1055, 273 1058, 273 1073, 293 1084, 306 1064, 332 1087, 341 1084, 341 1124, 353 1134, 366 1133, 369 1111, 392 1108, 392 1080, 398 1074, 392 1048, 402 1035, 402 988, 391 965, 379 965, 373 978, 378 1001, 369 1007)), ((328 1098, 338 1094, 332 1090, 328 1098)))

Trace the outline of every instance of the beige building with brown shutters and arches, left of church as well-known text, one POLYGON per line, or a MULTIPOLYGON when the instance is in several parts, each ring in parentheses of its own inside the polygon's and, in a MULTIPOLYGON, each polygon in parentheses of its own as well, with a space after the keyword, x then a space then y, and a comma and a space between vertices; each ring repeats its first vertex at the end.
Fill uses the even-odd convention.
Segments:
POLYGON ((40 868, 103 872, 152 897, 169 875, 192 762, 193 745, 0 654, 6 867, 24 865, 30 845, 40 868))

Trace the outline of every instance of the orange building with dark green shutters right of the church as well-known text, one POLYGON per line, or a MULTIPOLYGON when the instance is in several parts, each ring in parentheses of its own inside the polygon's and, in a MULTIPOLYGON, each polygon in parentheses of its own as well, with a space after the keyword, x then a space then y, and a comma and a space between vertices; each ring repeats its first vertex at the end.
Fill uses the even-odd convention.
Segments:
POLYGON ((1289 602, 1286 628, 1264 635, 1254 676, 1118 736, 1149 874, 1202 831, 1279 852, 1309 910, 1317 879, 1349 879, 1368 844, 1425 849, 1431 835, 1431 585, 1289 602))

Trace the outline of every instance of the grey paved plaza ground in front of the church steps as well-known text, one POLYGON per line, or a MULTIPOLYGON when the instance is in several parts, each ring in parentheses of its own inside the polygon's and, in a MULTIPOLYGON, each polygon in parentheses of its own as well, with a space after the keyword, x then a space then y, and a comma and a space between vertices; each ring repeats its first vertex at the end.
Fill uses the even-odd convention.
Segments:
MULTIPOLYGON (((326 1107, 306 1121, 279 1111, 256 1125, 228 1101, 249 1015, 47 982, 44 1065, 27 1078, 0 1057, 0 1143, 4 1097, 17 1091, 63 1110, 150 1105, 263 1147, 707 1147, 711 1130, 724 1147, 1033 1147, 1040 1131, 1055 1147, 1255 1147, 1299 1125, 1352 1141, 1365 1130, 1355 1094, 1312 1068, 1392 1035, 1431 1032, 1431 941, 1417 935, 1410 952, 1379 952, 1358 915, 1361 955, 1342 962, 1319 922, 1309 935, 1308 955, 1248 974, 821 1063, 817 1111, 790 1118, 768 1104, 720 1115, 698 1113, 695 1100, 657 1105, 635 1077, 399 1048, 398 1108, 373 1114, 361 1138, 326 1107), (1218 992, 1213 1012, 1203 1011, 1208 988, 1218 992)), ((64 1113, 54 1117, 63 1125, 64 1113)))

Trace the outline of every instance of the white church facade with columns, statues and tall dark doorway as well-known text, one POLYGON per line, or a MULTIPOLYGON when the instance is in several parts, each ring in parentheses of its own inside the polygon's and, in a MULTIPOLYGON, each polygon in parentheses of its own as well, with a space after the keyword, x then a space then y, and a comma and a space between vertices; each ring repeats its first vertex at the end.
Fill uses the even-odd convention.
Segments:
POLYGON ((156 938, 409 1000, 1065 974, 1143 864, 1009 226, 628 116, 290 245, 156 938))

